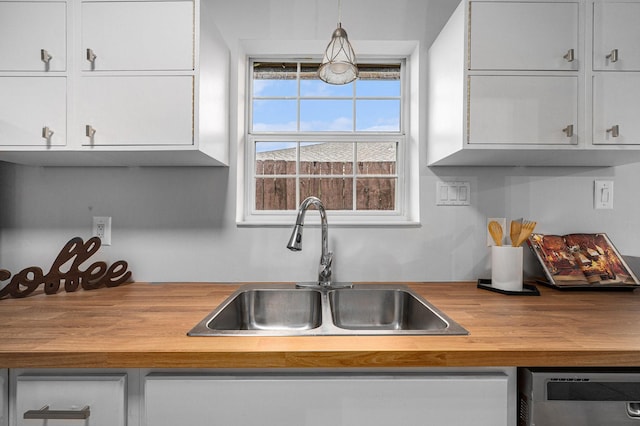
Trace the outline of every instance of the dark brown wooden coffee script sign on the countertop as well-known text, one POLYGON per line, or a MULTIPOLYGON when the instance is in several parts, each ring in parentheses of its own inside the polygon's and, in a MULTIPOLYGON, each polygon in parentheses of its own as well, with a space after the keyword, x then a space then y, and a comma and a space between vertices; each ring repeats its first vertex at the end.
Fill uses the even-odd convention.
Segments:
POLYGON ((0 286, 11 279, 0 288, 0 299, 28 296, 41 285, 46 294, 55 294, 63 283, 65 291, 71 292, 78 287, 93 290, 102 286, 116 287, 127 282, 131 278, 131 271, 127 270, 128 264, 124 260, 118 260, 108 267, 106 262, 99 261, 82 268, 82 264, 98 251, 100 245, 98 237, 89 238, 87 242, 80 237, 72 238, 62 248, 46 275, 37 266, 25 268, 13 277, 11 272, 0 269, 0 286), (61 270, 63 267, 66 269, 64 272, 61 270))

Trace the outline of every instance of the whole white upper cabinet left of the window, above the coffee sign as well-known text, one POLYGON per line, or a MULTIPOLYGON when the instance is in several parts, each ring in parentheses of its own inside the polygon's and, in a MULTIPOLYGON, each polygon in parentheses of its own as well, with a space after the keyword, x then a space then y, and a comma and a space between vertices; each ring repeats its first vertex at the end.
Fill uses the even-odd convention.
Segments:
POLYGON ((215 8, 0 0, 0 161, 228 165, 230 56, 215 8))

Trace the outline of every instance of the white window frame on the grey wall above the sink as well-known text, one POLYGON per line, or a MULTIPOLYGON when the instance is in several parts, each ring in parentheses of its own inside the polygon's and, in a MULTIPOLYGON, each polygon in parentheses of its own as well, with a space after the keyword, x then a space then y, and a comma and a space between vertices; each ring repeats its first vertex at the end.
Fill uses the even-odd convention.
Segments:
MULTIPOLYGON (((300 57, 305 60, 309 58, 319 61, 321 58, 317 52, 322 52, 323 47, 308 47, 302 51, 307 55, 300 54, 299 45, 287 50, 287 46, 292 42, 245 42, 241 46, 238 55, 238 198, 236 222, 240 226, 291 226, 295 220, 296 211, 272 211, 255 210, 255 149, 256 141, 269 141, 277 138, 280 141, 307 141, 330 139, 332 141, 357 141, 362 134, 352 132, 261 132, 251 134, 251 60, 270 60, 293 62, 300 57), (279 46, 278 53, 273 53, 274 46, 279 46), (318 50, 319 49, 319 50, 318 50), (269 54, 269 51, 272 51, 269 54), (296 55, 287 55, 286 52, 298 52, 296 55), (311 54, 313 52, 313 54, 311 54), (242 117, 242 119, 240 119, 242 117), (355 137, 354 137, 355 136, 355 137), (272 138, 272 139, 269 139, 272 138)), ((293 42, 293 44, 296 44, 293 42)), ((322 46, 321 44, 319 46, 322 46)), ((376 47, 371 45, 372 51, 376 47)), ((419 92, 416 91, 418 82, 418 46, 417 42, 389 42, 382 49, 379 47, 376 55, 366 55, 359 53, 358 60, 361 63, 385 63, 402 62, 401 72, 401 117, 400 132, 368 132, 367 141, 390 141, 398 140, 397 149, 397 189, 396 189, 396 210, 329 210, 328 216, 331 226, 416 226, 419 225, 419 151, 417 126, 412 122, 417 122, 415 115, 419 105, 419 92), (386 52, 385 52, 386 51, 386 52)), ((362 52, 362 42, 358 43, 358 52, 362 52)), ((315 221, 315 216, 311 215, 309 222, 315 221)))

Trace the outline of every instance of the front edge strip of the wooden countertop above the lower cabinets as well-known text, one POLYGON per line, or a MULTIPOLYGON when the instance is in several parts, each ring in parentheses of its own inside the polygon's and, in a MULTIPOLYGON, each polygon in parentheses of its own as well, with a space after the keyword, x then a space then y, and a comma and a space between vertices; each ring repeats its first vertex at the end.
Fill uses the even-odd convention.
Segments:
POLYGON ((330 351, 0 353, 2 368, 637 367, 637 351, 330 351))

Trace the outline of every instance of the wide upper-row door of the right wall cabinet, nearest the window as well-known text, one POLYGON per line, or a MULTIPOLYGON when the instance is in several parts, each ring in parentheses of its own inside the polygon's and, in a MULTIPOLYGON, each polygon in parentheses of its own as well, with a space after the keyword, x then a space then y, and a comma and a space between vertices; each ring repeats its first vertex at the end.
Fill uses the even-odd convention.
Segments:
POLYGON ((470 69, 577 70, 578 3, 470 3, 470 69), (564 56, 573 49, 573 60, 564 56))

